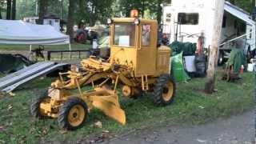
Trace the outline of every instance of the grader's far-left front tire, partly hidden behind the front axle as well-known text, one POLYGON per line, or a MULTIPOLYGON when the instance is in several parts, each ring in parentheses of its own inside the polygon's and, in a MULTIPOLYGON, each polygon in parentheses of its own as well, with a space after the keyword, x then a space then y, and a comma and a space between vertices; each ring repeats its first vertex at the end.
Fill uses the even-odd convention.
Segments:
POLYGON ((40 114, 40 103, 46 99, 47 96, 47 91, 41 92, 37 98, 34 98, 31 102, 30 105, 30 114, 34 118, 44 118, 42 114, 40 114))

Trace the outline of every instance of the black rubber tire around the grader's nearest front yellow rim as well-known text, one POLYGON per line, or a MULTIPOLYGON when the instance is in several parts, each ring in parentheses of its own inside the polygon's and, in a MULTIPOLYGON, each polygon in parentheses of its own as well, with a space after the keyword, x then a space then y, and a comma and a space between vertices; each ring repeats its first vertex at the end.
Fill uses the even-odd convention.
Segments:
MULTIPOLYGON (((81 127, 83 123, 86 121, 87 115, 88 109, 86 102, 84 102, 81 98, 70 98, 60 107, 58 115, 58 126, 66 130, 76 130, 79 127, 81 127), (74 106, 82 106, 83 112, 85 114, 81 122, 78 122, 78 125, 76 126, 72 125, 68 118, 70 110, 74 108, 74 106)), ((74 117, 77 117, 77 115, 75 115, 74 117)))

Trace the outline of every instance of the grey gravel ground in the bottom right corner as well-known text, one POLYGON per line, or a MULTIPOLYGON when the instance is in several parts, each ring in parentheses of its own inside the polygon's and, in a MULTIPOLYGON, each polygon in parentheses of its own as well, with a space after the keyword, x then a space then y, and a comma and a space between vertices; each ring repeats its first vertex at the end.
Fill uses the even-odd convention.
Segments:
POLYGON ((219 119, 205 125, 179 127, 166 126, 154 130, 142 130, 114 138, 109 144, 253 144, 254 111, 228 119, 219 119))

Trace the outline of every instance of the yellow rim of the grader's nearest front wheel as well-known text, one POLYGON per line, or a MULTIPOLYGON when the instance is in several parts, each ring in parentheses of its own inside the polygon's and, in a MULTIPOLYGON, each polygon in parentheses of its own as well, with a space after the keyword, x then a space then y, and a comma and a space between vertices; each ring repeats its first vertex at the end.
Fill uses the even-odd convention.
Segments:
POLYGON ((86 117, 85 110, 80 105, 75 105, 70 109, 68 114, 68 122, 71 126, 79 126, 86 117))

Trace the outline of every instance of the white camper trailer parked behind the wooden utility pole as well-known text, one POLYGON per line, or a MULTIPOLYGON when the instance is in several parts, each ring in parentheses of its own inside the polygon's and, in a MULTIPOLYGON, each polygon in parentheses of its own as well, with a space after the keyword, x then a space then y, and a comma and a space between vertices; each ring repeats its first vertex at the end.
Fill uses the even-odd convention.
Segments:
MULTIPOLYGON (((197 42, 204 38, 204 48, 209 48, 214 35, 214 5, 216 0, 172 0, 163 7, 162 31, 170 42, 197 42)), ((255 49, 255 22, 246 11, 225 2, 222 23, 220 57, 230 51, 234 42, 240 42, 247 52, 255 49)))

